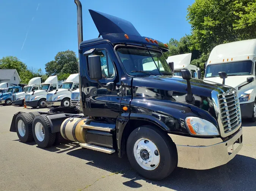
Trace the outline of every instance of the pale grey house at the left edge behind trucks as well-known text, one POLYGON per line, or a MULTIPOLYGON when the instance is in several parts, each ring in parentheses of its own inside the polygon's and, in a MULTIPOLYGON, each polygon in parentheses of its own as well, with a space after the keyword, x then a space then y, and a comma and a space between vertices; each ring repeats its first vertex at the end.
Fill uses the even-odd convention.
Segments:
POLYGON ((16 69, 0 69, 0 83, 7 82, 8 86, 20 83, 20 77, 16 69))

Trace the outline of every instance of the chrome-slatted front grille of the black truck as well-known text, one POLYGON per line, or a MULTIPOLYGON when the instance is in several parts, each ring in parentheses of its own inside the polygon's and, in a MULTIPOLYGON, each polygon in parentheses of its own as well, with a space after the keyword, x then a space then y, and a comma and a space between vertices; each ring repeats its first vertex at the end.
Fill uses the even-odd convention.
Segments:
POLYGON ((220 117, 224 133, 229 133, 240 126, 241 114, 238 97, 235 91, 231 94, 219 94, 220 117))

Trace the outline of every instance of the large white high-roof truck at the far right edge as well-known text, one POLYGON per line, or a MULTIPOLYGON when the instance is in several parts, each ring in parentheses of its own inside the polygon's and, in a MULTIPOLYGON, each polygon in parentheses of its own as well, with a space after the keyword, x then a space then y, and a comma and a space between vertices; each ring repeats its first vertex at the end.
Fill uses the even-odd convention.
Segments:
POLYGON ((236 89, 242 118, 253 122, 256 121, 255 63, 256 39, 225 43, 212 49, 204 76, 204 81, 223 83, 219 72, 226 72, 225 85, 236 89))

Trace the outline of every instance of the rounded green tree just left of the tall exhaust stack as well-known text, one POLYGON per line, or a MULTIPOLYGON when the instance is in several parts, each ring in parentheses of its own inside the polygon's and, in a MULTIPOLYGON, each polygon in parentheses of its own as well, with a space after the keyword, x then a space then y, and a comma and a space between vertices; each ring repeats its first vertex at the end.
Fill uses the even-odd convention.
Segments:
POLYGON ((58 79, 60 80, 60 75, 78 72, 78 58, 74 51, 58 52, 54 60, 46 63, 45 70, 47 75, 58 75, 58 79))

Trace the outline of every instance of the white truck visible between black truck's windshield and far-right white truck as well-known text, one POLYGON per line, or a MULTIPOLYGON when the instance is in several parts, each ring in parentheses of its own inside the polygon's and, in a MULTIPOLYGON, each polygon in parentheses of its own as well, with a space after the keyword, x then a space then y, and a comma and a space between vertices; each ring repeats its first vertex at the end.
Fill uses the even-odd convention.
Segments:
POLYGON ((197 71, 200 71, 200 68, 190 64, 191 56, 192 56, 192 53, 188 53, 188 54, 179 54, 179 55, 169 56, 167 58, 168 63, 169 62, 174 63, 175 75, 181 76, 181 69, 188 69, 192 75, 192 78, 198 78, 197 71))

